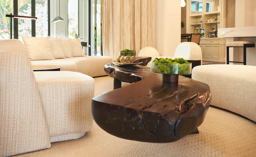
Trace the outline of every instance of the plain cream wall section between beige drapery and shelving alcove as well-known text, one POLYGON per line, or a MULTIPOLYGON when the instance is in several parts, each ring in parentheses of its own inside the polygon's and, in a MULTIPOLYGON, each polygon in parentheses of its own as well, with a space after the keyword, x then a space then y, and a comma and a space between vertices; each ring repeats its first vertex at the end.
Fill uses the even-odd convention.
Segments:
POLYGON ((173 56, 180 43, 180 1, 155 0, 155 48, 161 56, 173 56))

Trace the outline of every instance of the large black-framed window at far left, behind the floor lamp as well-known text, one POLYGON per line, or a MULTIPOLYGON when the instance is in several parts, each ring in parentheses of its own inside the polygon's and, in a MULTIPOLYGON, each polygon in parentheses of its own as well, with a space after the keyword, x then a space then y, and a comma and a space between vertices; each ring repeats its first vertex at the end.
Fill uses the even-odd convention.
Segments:
POLYGON ((46 37, 48 28, 48 4, 49 0, 1 0, 0 1, 0 39, 9 39, 10 18, 6 14, 21 16, 36 16, 37 20, 29 18, 12 18, 12 38, 21 39, 24 36, 46 37), (8 37, 7 37, 8 35, 8 37))

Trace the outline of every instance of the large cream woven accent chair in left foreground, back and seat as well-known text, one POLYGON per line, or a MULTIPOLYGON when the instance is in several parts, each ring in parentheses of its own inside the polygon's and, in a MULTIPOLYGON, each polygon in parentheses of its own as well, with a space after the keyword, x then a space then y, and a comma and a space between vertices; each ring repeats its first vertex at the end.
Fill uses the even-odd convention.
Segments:
POLYGON ((92 77, 35 71, 24 44, 0 40, 0 156, 50 148, 92 128, 92 77))

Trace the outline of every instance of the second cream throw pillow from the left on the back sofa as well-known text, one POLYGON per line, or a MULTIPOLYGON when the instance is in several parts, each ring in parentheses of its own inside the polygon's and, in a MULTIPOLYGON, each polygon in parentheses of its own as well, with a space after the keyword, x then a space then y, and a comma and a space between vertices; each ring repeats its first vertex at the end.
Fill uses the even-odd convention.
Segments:
MULTIPOLYGON (((49 38, 49 37, 48 37, 49 38)), ((55 59, 65 58, 58 37, 49 38, 51 53, 55 59)))

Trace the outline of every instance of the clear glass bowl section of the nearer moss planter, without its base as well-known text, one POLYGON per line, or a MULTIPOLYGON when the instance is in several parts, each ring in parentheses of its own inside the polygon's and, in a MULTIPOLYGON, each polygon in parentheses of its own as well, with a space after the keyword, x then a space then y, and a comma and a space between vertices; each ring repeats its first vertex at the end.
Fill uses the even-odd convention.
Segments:
POLYGON ((160 74, 176 74, 189 75, 191 74, 192 64, 170 64, 151 62, 150 70, 160 74))

